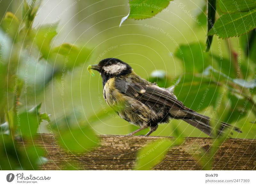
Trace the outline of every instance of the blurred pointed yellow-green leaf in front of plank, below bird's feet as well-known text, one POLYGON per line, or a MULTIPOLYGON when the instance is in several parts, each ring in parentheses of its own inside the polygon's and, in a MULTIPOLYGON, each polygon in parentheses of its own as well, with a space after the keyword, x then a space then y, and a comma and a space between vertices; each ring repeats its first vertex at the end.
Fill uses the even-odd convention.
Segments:
POLYGON ((164 158, 173 144, 174 142, 168 139, 159 139, 142 148, 137 155, 137 163, 134 169, 150 170, 164 158))

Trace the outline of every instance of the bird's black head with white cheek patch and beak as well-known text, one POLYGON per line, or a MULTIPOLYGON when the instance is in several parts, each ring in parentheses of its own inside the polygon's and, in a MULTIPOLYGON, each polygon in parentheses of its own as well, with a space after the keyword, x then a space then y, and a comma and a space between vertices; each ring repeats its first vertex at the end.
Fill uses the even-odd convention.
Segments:
POLYGON ((100 72, 102 78, 109 78, 130 74, 132 67, 120 59, 106 58, 101 60, 98 65, 92 65, 92 70, 100 72))

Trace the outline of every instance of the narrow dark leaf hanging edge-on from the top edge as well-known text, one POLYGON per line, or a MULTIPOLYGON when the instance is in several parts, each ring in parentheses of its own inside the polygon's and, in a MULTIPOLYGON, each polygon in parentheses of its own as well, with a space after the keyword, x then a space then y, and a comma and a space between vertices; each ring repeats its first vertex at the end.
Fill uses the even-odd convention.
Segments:
MULTIPOLYGON (((207 31, 213 27, 215 23, 215 13, 216 13, 216 0, 208 0, 207 2, 207 31)), ((211 48, 213 35, 207 35, 206 39, 206 49, 208 52, 211 48)))

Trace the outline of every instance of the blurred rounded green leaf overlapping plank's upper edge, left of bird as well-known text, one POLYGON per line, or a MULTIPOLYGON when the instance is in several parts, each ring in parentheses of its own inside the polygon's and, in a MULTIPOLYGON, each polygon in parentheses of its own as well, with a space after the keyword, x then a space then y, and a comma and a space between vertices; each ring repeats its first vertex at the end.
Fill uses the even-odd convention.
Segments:
POLYGON ((99 138, 89 125, 61 130, 58 141, 63 148, 73 153, 87 152, 100 143, 99 138))

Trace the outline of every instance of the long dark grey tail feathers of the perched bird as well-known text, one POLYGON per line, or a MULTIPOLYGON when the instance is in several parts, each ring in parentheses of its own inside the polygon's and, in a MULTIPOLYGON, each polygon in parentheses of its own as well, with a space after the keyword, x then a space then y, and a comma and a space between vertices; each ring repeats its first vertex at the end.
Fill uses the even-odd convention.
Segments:
MULTIPOLYGON (((190 125, 198 128, 199 130, 203 131, 204 133, 208 134, 209 136, 213 136, 214 134, 213 132, 214 128, 210 125, 211 119, 207 116, 198 114, 197 112, 193 112, 193 117, 191 117, 191 119, 183 119, 183 120, 189 123, 190 125)), ((222 121, 216 121, 216 122, 220 124, 220 127, 217 129, 218 135, 220 135, 225 128, 230 128, 235 130, 236 132, 242 133, 242 131, 239 128, 234 127, 228 123, 225 123, 222 121)), ((233 133, 231 133, 231 135, 232 134, 233 133)))

